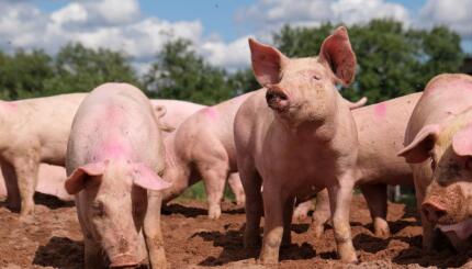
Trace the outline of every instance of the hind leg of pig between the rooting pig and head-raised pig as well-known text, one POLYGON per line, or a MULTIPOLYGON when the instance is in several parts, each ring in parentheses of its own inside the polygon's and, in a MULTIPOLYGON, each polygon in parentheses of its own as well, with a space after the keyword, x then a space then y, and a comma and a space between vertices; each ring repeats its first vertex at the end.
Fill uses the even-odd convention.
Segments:
POLYGON ((202 165, 199 167, 199 170, 200 175, 202 175, 209 200, 209 217, 216 220, 222 215, 222 208, 220 203, 225 191, 228 168, 226 165, 223 165, 223 162, 220 162, 212 166, 202 165))

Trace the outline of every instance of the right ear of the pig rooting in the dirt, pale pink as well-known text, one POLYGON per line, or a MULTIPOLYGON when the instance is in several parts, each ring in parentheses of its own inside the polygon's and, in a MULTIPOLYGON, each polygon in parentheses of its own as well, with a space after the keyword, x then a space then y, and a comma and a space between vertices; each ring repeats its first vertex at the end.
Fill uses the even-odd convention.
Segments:
POLYGON ((160 191, 171 186, 144 164, 133 165, 133 183, 151 191, 160 191))

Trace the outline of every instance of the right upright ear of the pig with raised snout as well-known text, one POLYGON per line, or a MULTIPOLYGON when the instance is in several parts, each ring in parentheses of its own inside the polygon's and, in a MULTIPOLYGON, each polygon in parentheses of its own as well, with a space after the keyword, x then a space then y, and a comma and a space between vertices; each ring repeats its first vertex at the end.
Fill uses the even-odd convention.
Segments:
POLYGON ((328 64, 344 86, 352 82, 356 75, 356 54, 352 52, 346 27, 339 26, 326 37, 322 44, 318 59, 321 63, 328 64))

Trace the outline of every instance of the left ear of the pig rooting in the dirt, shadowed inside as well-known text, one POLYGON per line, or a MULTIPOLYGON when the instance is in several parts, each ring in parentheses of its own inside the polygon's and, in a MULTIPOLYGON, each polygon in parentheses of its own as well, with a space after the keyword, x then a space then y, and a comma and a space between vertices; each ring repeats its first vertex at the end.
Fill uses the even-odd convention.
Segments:
POLYGON ((77 168, 65 182, 67 193, 76 194, 86 187, 87 180, 89 180, 90 177, 101 176, 104 171, 104 162, 88 164, 77 168))

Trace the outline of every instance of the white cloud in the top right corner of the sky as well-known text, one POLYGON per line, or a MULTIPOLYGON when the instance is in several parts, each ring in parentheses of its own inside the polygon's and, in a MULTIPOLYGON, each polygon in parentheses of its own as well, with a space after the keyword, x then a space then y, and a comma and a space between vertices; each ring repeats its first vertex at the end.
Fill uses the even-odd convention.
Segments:
POLYGON ((447 25, 463 37, 472 37, 472 0, 428 0, 419 12, 424 26, 447 25))

